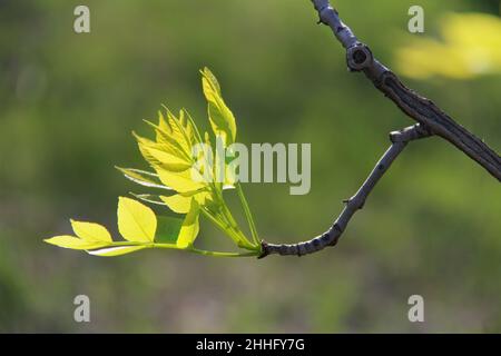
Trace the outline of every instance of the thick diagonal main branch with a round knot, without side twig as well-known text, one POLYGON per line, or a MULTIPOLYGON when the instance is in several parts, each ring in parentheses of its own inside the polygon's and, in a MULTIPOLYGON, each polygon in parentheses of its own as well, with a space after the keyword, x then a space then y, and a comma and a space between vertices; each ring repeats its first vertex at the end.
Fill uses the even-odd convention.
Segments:
POLYGON ((370 48, 360 42, 353 31, 341 21, 328 0, 312 1, 318 11, 320 22, 328 26, 346 49, 347 65, 352 71, 363 71, 405 115, 446 139, 501 181, 501 157, 493 149, 456 123, 431 100, 406 88, 399 77, 380 63, 370 48))

